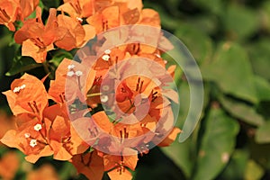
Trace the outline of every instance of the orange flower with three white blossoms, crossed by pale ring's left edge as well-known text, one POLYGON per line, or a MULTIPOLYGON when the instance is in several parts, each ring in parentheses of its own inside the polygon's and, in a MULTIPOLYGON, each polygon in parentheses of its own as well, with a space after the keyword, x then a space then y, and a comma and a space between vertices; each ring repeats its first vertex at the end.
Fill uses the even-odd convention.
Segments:
POLYGON ((56 79, 50 82, 50 98, 67 105, 73 103, 76 98, 85 101, 86 92, 94 83, 94 76, 94 70, 64 58, 56 70, 56 79))

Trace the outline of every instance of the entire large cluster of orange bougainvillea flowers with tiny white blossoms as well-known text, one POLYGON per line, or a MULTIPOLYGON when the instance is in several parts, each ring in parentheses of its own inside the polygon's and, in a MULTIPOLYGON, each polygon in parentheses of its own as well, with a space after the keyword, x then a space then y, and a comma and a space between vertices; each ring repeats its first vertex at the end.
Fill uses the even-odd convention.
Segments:
POLYGON ((174 127, 171 103, 178 96, 168 88, 175 66, 161 58, 172 46, 160 32, 157 12, 143 9, 140 0, 64 0, 49 9, 44 24, 39 1, 0 4, 0 23, 15 31, 22 56, 44 63, 52 49, 81 48, 76 61, 61 61, 48 89, 46 77, 24 74, 4 92, 16 121, 1 139, 5 145, 20 149, 31 163, 53 155, 90 179, 108 172, 111 179, 126 180, 138 154, 175 140, 181 130, 174 127), (36 17, 27 18, 34 10, 36 17), (23 22, 17 31, 16 21, 23 22), (130 24, 130 34, 110 31, 130 24), (132 24, 155 27, 150 45, 140 41, 146 32, 132 24), (120 45, 113 46, 115 41, 120 45))

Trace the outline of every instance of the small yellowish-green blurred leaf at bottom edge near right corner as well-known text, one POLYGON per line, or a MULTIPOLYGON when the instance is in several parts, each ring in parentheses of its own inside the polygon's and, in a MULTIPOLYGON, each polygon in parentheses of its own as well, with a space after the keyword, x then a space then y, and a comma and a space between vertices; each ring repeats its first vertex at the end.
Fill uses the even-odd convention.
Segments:
POLYGON ((259 166, 254 160, 249 160, 247 163, 245 180, 259 180, 264 175, 264 169, 259 166))

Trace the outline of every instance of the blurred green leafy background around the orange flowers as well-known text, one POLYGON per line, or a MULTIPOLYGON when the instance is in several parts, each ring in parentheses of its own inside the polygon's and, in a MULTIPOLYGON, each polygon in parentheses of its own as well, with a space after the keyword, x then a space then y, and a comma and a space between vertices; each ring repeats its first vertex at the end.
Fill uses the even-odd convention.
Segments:
MULTIPOLYGON (((43 0, 44 9, 59 1, 43 0)), ((204 106, 193 135, 168 148, 154 148, 139 157, 134 179, 146 180, 257 180, 270 179, 270 1, 267 0, 144 0, 155 9, 162 28, 174 33, 192 52, 202 71, 204 106)), ((47 8, 47 9, 46 9, 47 8)), ((20 76, 13 59, 13 34, 0 27, 0 90, 20 76), (4 74, 10 71, 9 75, 4 74)), ((70 56, 66 54, 65 56, 70 56)), ((63 58, 63 57, 60 57, 63 58)), ((42 67, 29 70, 31 60, 20 66, 36 76, 42 67)), ((18 60, 17 63, 22 63, 18 60)), ((189 108, 189 87, 180 89, 181 127, 189 108)), ((9 112, 0 96, 1 110, 9 112)), ((4 155, 9 148, 0 148, 4 155)), ((22 156, 19 153, 20 156, 22 156)), ((42 163, 57 167, 61 179, 84 179, 66 162, 42 163)), ((16 179, 24 178, 23 167, 16 179)), ((107 179, 107 176, 104 176, 107 179)))

